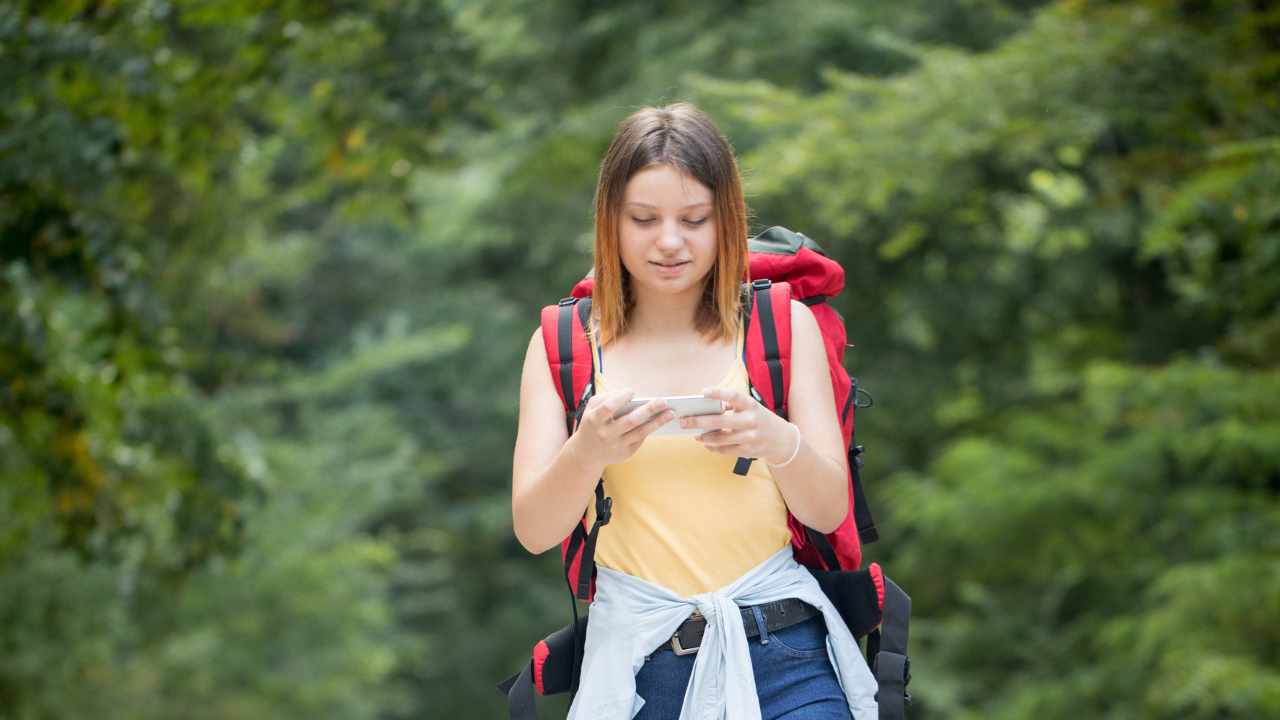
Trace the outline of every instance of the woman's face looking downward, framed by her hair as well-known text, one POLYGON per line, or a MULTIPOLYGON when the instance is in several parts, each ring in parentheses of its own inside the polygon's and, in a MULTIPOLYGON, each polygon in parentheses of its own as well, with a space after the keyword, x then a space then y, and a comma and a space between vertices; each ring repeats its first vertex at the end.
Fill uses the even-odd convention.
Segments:
POLYGON ((618 243, 632 290, 701 293, 716 264, 712 191, 671 165, 631 176, 622 197, 618 243))

